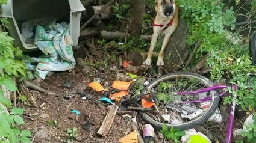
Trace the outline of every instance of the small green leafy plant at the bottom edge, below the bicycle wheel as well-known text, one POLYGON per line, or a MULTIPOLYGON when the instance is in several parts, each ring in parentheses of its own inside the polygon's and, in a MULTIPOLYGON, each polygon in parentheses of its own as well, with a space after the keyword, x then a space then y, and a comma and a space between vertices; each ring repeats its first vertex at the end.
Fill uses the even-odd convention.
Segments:
POLYGON ((174 142, 181 142, 181 136, 185 135, 185 132, 179 129, 174 129, 173 127, 168 130, 168 127, 165 124, 162 126, 161 133, 163 133, 166 139, 172 139, 174 142))

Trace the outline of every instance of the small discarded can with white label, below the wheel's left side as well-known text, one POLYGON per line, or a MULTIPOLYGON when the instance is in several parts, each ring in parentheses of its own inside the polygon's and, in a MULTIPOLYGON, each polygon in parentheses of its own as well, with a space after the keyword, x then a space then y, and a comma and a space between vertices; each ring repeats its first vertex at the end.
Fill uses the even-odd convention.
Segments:
POLYGON ((143 139, 145 142, 154 141, 155 129, 151 124, 145 124, 143 126, 143 139))

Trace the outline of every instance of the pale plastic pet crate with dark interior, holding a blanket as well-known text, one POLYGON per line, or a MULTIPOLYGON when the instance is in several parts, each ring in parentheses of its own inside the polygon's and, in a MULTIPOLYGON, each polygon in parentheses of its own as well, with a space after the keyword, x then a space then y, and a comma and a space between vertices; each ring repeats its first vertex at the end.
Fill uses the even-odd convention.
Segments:
POLYGON ((26 42, 22 35, 21 26, 31 19, 54 17, 69 22, 73 46, 78 44, 80 35, 81 11, 85 8, 80 0, 8 0, 7 5, 1 5, 2 17, 10 22, 9 34, 23 52, 38 48, 33 43, 26 42))

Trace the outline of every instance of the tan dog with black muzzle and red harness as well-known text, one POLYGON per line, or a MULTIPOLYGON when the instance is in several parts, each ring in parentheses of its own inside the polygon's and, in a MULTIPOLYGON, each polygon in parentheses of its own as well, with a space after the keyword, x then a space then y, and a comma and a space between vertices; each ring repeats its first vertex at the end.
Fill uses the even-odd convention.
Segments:
POLYGON ((163 32, 165 34, 164 41, 161 47, 161 51, 158 55, 157 65, 164 65, 164 49, 169 43, 170 35, 175 31, 178 26, 178 6, 175 4, 174 0, 155 0, 157 4, 155 6, 155 11, 157 11, 157 16, 154 19, 154 34, 152 35, 151 46, 148 52, 148 58, 144 62, 146 65, 151 64, 152 52, 157 43, 158 35, 163 32))

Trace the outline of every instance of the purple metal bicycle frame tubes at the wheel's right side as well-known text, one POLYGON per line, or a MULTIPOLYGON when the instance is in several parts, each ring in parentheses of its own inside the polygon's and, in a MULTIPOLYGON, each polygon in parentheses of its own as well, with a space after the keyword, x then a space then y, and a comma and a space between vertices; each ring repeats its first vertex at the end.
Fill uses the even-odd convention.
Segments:
MULTIPOLYGON (((231 87, 234 87, 235 90, 237 90, 236 85, 233 85, 231 87)), ((181 92, 181 93, 177 93, 177 95, 205 93, 207 91, 220 90, 220 89, 225 89, 225 88, 228 88, 228 86, 226 86, 226 85, 214 85, 214 86, 211 86, 211 87, 202 88, 201 90, 184 91, 184 92, 181 92)), ((225 92, 222 92, 222 93, 219 94, 219 96, 223 97, 223 96, 225 96, 225 94, 226 94, 225 92)), ((236 100, 237 95, 234 94, 233 96, 234 96, 233 99, 236 100)), ((200 102, 205 102, 205 101, 210 101, 210 100, 211 100, 211 97, 205 97, 204 99, 192 100, 192 101, 182 102, 182 103, 200 103, 200 102)), ((235 109, 236 109, 236 102, 233 101, 233 102, 231 102, 230 113, 229 113, 229 117, 228 117, 228 127, 226 129, 226 143, 231 143, 235 109)))

